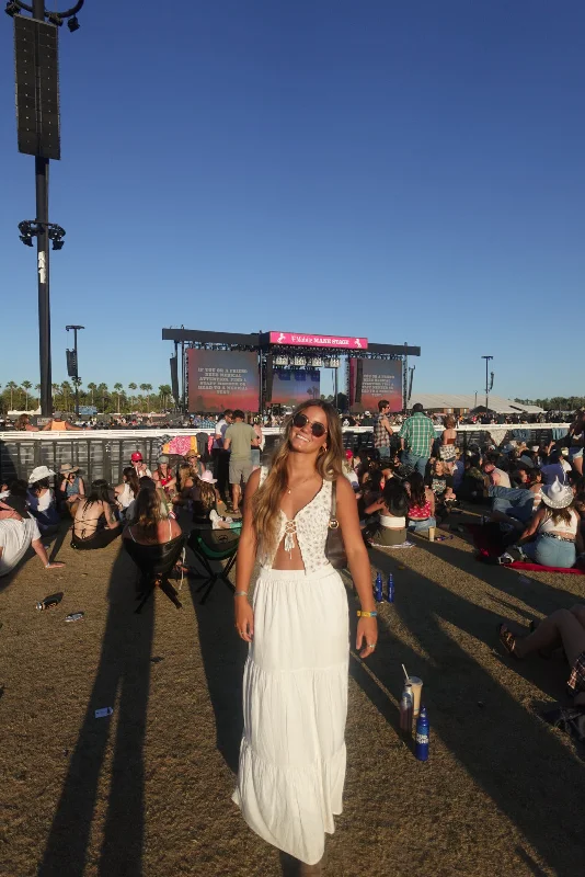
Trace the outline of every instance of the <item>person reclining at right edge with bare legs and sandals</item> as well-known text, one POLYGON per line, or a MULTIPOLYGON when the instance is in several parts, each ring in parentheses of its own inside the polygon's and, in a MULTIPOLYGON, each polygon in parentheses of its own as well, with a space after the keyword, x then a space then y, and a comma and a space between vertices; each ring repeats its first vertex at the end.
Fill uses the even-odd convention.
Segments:
POLYGON ((535 653, 548 658, 554 649, 562 647, 571 668, 567 693, 573 696, 575 706, 585 707, 584 605, 557 610, 539 625, 531 625, 531 633, 526 637, 513 634, 506 624, 501 624, 497 630, 504 648, 519 660, 535 653))

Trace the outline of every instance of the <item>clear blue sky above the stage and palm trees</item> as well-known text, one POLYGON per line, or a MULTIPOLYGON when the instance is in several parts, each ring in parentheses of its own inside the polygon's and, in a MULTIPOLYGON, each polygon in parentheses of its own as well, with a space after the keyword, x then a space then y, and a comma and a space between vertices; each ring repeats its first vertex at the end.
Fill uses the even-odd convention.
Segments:
MULTIPOLYGON (((484 353, 500 395, 585 392, 582 0, 87 0, 80 22, 54 380, 78 322, 84 381, 168 383, 184 323, 409 341, 414 395, 480 389, 484 353)), ((2 14, 2 384, 38 380, 13 78, 2 14)))

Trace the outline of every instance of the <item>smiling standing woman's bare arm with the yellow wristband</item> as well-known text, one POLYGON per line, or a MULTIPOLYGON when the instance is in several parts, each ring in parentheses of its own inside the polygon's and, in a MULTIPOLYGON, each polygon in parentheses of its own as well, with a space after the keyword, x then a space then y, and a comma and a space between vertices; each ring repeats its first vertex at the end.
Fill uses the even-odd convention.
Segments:
MULTIPOLYGON (((359 596, 363 612, 376 612, 371 589, 371 571, 367 548, 362 537, 357 503, 352 486, 345 478, 337 478, 337 520, 343 534, 349 571, 359 596)), ((376 646, 378 625, 376 617, 360 617, 357 622, 356 648, 360 658, 371 654, 368 643, 376 646)))

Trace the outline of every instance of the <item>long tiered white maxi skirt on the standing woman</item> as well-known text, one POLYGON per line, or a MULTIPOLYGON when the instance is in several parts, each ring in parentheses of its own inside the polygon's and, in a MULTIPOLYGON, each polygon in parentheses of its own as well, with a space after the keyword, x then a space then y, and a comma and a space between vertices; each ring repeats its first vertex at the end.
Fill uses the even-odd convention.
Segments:
POLYGON ((233 800, 256 834, 314 865, 343 809, 347 596, 329 563, 309 574, 264 568, 253 607, 233 800))

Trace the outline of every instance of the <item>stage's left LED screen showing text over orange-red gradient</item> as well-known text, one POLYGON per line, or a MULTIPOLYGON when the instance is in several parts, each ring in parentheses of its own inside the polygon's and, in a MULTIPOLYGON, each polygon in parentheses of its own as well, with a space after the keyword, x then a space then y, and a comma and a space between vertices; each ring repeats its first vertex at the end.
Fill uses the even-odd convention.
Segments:
POLYGON ((234 350, 188 350, 188 410, 218 412, 226 408, 259 410, 257 355, 234 350))

